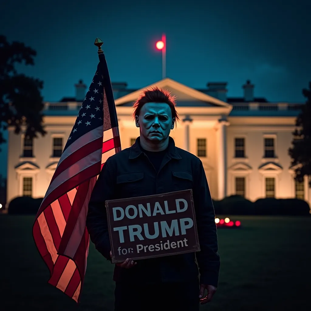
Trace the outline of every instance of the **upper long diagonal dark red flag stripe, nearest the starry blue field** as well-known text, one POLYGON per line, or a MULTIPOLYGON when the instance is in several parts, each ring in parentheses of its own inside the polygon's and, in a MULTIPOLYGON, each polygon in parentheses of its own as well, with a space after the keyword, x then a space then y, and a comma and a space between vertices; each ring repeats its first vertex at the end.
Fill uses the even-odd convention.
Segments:
POLYGON ((72 164, 78 162, 79 160, 85 158, 89 154, 95 152, 96 150, 100 149, 101 143, 103 142, 103 137, 99 137, 92 142, 89 142, 88 144, 81 146, 78 150, 74 151, 70 156, 67 156, 66 159, 64 159, 57 169, 55 170, 55 173, 53 174, 53 177, 51 179, 51 183, 53 180, 61 174, 64 170, 66 170, 68 167, 70 167, 72 164))

